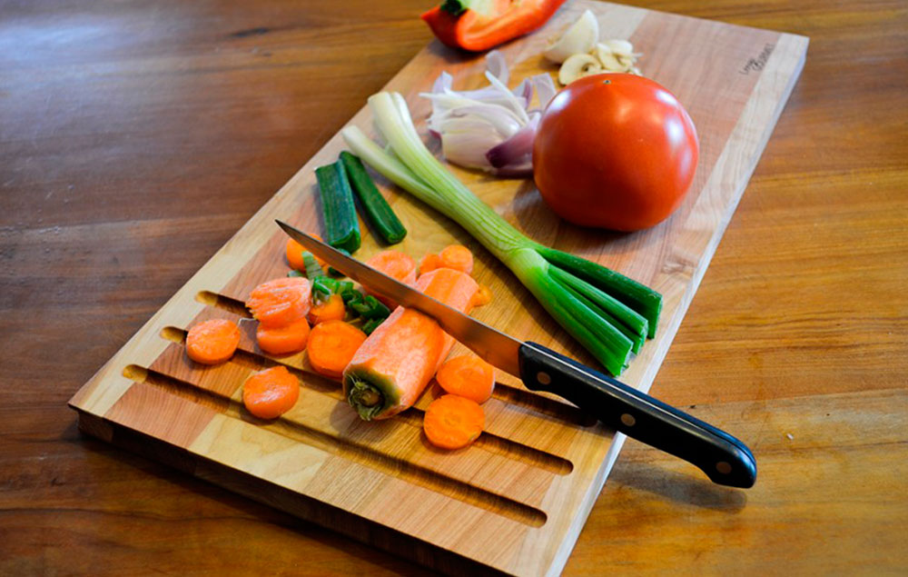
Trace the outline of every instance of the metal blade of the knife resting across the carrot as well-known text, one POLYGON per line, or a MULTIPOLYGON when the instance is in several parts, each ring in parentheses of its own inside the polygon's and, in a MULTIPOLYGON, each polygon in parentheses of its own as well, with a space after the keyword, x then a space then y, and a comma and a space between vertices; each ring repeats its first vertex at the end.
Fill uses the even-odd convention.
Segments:
POLYGON ((413 287, 403 284, 387 274, 360 263, 346 254, 334 249, 329 244, 321 243, 309 234, 291 226, 290 224, 276 221, 285 233, 296 242, 302 244, 312 254, 315 254, 326 263, 346 274, 351 279, 363 286, 368 286, 371 291, 388 297, 395 303, 414 308, 426 313, 436 321, 445 333, 450 334, 460 343, 466 345, 473 353, 487 363, 493 364, 506 373, 520 377, 518 363, 520 345, 517 339, 493 329, 486 323, 481 323, 474 318, 452 309, 445 303, 420 293, 413 287))

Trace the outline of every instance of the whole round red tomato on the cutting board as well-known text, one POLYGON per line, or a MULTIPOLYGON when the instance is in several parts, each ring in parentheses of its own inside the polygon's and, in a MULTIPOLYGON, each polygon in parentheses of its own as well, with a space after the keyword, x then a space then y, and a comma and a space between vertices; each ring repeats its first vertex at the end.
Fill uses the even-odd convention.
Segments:
POLYGON ((565 220, 637 231, 675 212, 698 154, 694 123, 664 87, 637 75, 592 75, 542 114, 533 174, 565 220))

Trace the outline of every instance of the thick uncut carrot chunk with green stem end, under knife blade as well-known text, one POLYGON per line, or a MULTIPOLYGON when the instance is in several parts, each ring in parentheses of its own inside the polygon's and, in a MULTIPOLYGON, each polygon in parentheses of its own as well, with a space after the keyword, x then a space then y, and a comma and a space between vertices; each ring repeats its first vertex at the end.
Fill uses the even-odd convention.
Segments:
MULTIPOLYGON (((462 313, 469 313, 478 288, 469 274, 449 268, 422 274, 416 286, 462 313)), ((416 402, 453 343, 435 319, 399 306, 350 360, 344 395, 366 421, 400 413, 416 402)))

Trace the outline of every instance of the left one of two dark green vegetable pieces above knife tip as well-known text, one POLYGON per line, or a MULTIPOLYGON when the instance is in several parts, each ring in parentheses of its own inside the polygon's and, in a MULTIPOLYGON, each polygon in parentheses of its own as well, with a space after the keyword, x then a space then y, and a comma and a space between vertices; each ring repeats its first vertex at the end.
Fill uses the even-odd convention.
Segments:
POLYGON ((360 222, 356 218, 353 192, 341 161, 315 169, 325 217, 325 241, 348 254, 360 248, 360 222))

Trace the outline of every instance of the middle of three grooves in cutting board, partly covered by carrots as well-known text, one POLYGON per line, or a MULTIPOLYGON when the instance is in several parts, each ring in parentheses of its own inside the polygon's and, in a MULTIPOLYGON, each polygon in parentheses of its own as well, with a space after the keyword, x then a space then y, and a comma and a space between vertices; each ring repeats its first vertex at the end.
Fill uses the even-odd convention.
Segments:
MULTIPOLYGON (((183 329, 168 326, 164 327, 161 335, 163 338, 172 341, 173 343, 182 344, 185 340, 186 332, 183 329)), ((290 364, 281 363, 280 361, 276 361, 269 357, 242 350, 237 350, 232 362, 248 366, 253 371, 259 371, 262 370, 262 368, 279 365, 286 367, 287 370, 293 373, 307 388, 331 397, 331 399, 334 399, 339 403, 345 402, 339 383, 322 377, 317 373, 301 371, 299 368, 290 364)), ((416 429, 417 434, 421 435, 422 418, 424 414, 424 411, 418 407, 411 407, 409 411, 395 416, 395 420, 400 423, 409 424, 416 429)), ((473 443, 473 447, 488 453, 498 454, 511 461, 528 464, 538 469, 548 471, 549 473, 568 475, 574 470, 574 464, 564 457, 548 453, 525 443, 513 441, 507 437, 489 433, 488 431, 479 435, 479 439, 473 443)))

